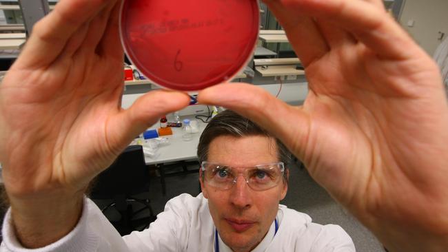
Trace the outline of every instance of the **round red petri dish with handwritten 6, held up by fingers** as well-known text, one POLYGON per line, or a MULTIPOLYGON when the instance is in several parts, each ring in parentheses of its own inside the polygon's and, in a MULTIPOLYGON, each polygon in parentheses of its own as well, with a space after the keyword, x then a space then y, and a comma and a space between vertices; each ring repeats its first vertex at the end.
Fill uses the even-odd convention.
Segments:
POLYGON ((121 42, 152 83, 202 90, 230 81, 252 59, 257 0, 125 0, 121 42))

